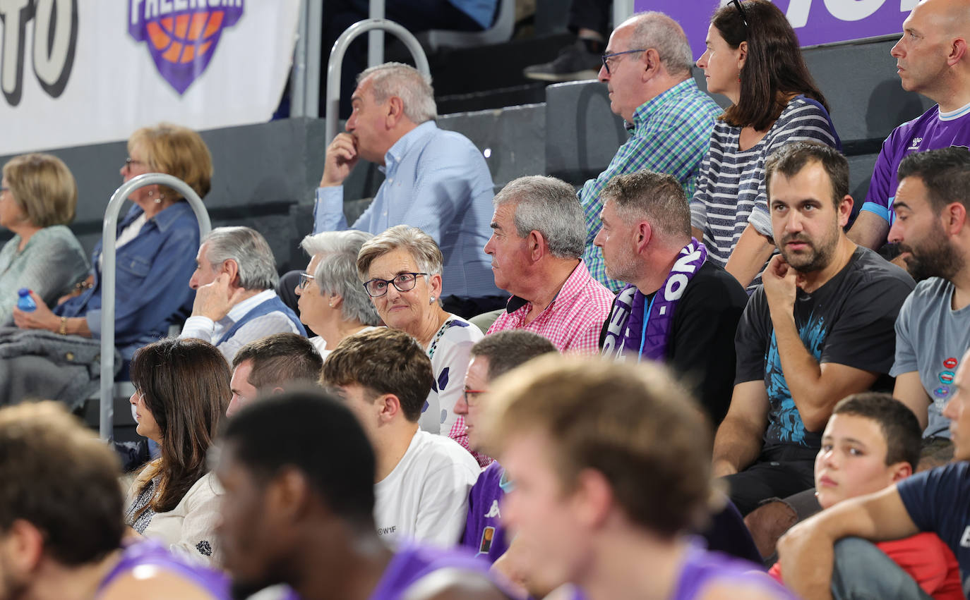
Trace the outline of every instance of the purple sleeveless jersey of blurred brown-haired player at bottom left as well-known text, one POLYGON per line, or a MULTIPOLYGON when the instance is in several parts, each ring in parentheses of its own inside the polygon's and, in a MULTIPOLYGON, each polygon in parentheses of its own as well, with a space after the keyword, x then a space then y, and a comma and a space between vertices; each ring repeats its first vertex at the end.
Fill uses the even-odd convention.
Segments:
POLYGON ((225 574, 201 565, 191 564, 151 540, 140 540, 126 546, 121 553, 121 559, 98 585, 95 596, 100 596, 117 578, 142 566, 155 567, 177 575, 187 582, 205 589, 212 598, 218 600, 231 600, 232 598, 229 593, 229 578, 225 574))

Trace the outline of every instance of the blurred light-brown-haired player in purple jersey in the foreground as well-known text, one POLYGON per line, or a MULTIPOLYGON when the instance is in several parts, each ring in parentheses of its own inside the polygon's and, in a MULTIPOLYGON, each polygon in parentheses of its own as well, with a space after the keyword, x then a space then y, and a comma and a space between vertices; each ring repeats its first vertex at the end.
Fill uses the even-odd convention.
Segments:
POLYGON ((710 432, 688 397, 660 366, 580 358, 496 382, 483 434, 515 482, 502 519, 536 579, 591 600, 792 598, 684 535, 712 495, 710 432))

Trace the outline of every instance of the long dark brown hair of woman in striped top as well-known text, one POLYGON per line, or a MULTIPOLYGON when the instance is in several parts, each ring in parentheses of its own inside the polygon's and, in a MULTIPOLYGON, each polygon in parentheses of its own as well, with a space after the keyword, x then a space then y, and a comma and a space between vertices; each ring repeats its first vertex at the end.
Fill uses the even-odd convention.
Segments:
POLYGON ((734 127, 763 131, 778 120, 788 106, 788 97, 797 94, 818 101, 828 111, 785 14, 767 0, 747 0, 742 5, 744 19, 733 4, 721 7, 711 18, 727 46, 736 49, 742 42, 748 43, 748 59, 740 76, 741 97, 721 118, 734 127))

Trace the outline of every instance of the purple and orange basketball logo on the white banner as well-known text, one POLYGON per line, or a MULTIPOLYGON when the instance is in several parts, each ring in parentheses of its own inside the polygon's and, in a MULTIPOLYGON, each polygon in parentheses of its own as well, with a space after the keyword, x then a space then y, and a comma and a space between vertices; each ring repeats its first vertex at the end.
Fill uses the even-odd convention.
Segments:
POLYGON ((145 42, 158 73, 179 94, 209 66, 223 29, 242 16, 242 0, 130 0, 128 33, 145 42))

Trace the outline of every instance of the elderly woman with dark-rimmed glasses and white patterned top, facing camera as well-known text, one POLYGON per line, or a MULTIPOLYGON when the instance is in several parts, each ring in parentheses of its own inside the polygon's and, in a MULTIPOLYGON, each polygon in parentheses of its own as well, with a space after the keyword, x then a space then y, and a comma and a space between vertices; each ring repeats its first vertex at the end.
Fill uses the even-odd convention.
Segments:
POLYGON ((364 243, 357 272, 387 327, 409 333, 431 358, 435 385, 418 425, 468 448, 465 420, 455 414, 455 403, 465 388, 471 346, 484 335, 441 308, 442 262, 434 239, 398 225, 364 243))

